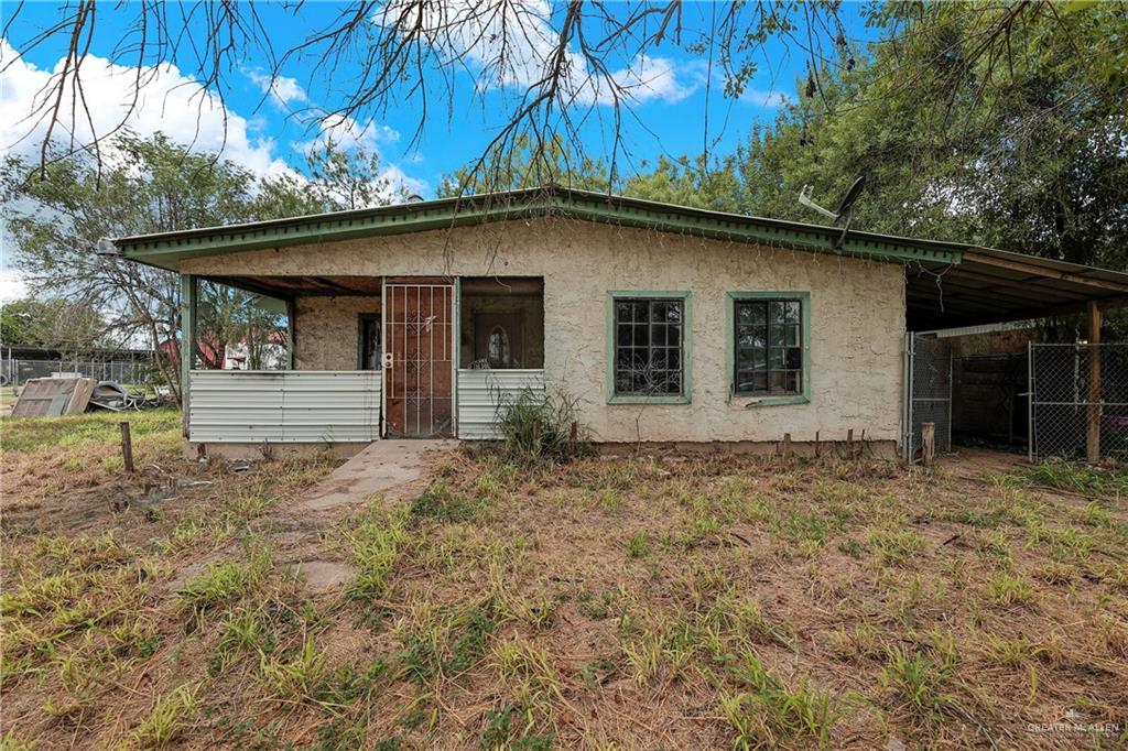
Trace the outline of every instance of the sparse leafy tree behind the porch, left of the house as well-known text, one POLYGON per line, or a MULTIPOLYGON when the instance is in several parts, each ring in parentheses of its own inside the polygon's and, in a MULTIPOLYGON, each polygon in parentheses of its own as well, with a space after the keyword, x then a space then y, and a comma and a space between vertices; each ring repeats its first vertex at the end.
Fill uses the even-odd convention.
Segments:
MULTIPOLYGON (((162 232, 274 219, 345 206, 342 177, 328 171, 321 179, 298 174, 256 178, 214 153, 196 153, 161 134, 140 139, 124 133, 107 148, 114 158, 98 164, 89 154, 53 160, 45 171, 18 157, 0 167, 5 209, 15 259, 37 295, 63 294, 85 309, 103 311, 106 330, 118 341, 147 342, 157 369, 174 395, 179 391, 177 348, 169 347, 179 330, 179 282, 164 270, 96 255, 99 238, 162 232)), ((338 162, 337 152, 312 160, 338 162)), ((378 162, 363 152, 349 160, 370 169, 378 162)), ((343 164, 352 164, 346 161, 343 164)), ((373 203, 387 198, 356 188, 373 203)), ((283 317, 273 323, 253 311, 243 290, 205 284, 199 321, 202 351, 223 353, 221 343, 247 336, 277 338, 283 317)), ((284 341, 284 339, 283 339, 284 341)), ((248 343, 248 345, 252 343, 248 343)), ((212 360, 215 360, 212 357, 212 360)), ((215 366, 217 362, 205 362, 215 366)))

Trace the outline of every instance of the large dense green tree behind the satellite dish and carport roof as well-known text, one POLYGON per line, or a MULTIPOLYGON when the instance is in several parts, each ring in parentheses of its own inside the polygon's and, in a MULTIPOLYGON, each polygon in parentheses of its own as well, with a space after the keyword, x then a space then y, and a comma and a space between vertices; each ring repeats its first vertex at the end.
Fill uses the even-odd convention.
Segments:
POLYGON ((803 185, 832 203, 864 174, 860 229, 1128 267, 1123 71, 1077 52, 1128 38, 1123 8, 1030 19, 997 60, 976 55, 973 6, 920 12, 885 7, 875 23, 901 29, 900 44, 825 69, 817 96, 800 91, 754 129, 739 158, 744 210, 810 220, 803 185))

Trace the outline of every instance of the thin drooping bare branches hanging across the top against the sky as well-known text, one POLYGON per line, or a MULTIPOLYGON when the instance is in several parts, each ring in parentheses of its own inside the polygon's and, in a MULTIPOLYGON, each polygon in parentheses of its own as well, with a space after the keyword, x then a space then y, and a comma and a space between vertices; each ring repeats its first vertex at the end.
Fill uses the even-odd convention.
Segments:
MULTIPOLYGON (((909 56, 889 79, 896 90, 911 91, 918 77, 928 76, 934 67, 945 68, 952 80, 967 80, 984 70, 992 76, 1006 74, 1014 38, 1055 24, 1072 34, 1075 27, 1108 17, 1122 20, 1125 15, 1122 3, 1084 1, 952 6, 957 3, 871 7, 870 21, 885 32, 879 53, 892 62, 918 43, 934 42, 946 30, 952 15, 970 19, 968 44, 958 59, 924 60, 925 69, 920 69, 911 63, 922 60, 909 56), (1076 20, 1083 17, 1085 20, 1076 20)), ((43 46, 65 50, 58 72, 38 92, 35 111, 26 113, 26 122, 43 124, 39 142, 44 167, 59 133, 92 131, 89 143, 72 142, 71 147, 90 149, 100 160, 102 143, 129 122, 157 65, 173 64, 194 77, 201 109, 224 108, 223 98, 230 89, 227 77, 246 60, 261 56, 270 70, 268 90, 275 89, 292 63, 305 63, 312 71, 310 78, 319 77, 317 86, 325 98, 338 103, 319 113, 328 127, 369 122, 411 100, 418 112, 416 138, 435 113, 447 112, 448 118, 452 117, 456 87, 469 78, 483 108, 499 107, 491 92, 501 90, 506 96, 497 109, 495 136, 468 167, 473 180, 464 184, 501 184, 503 161, 487 157, 513 151, 521 139, 528 139, 537 150, 549 148, 554 136, 576 148, 583 142, 581 136, 596 129, 608 144, 605 158, 611 185, 629 148, 622 138, 623 122, 637 116, 635 107, 649 87, 647 65, 663 50, 679 48, 706 61, 711 86, 728 97, 744 92, 773 41, 807 61, 805 90, 820 97, 825 96, 827 67, 848 70, 860 54, 857 45, 847 39, 841 0, 350 0, 328 23, 317 24, 305 16, 307 3, 298 2, 271 10, 284 17, 275 23, 309 29, 285 48, 275 48, 272 23, 262 17, 263 7, 253 2, 215 6, 193 0, 103 9, 94 0, 70 0, 61 7, 56 23, 14 39, 21 8, 23 3, 10 14, 3 27, 6 38, 24 53, 43 46), (115 15, 115 23, 97 23, 106 12, 115 15), (129 77, 133 91, 125 97, 132 104, 116 125, 100 132, 91 116, 100 103, 87 99, 82 78, 82 62, 96 38, 105 39, 100 46, 111 51, 112 63, 134 73, 129 77), (609 115, 603 116, 603 112, 609 115)), ((1046 41, 1063 45, 1051 50, 1054 54, 1069 54, 1074 59, 1070 64, 1087 67, 1094 76, 1104 76, 1123 89, 1128 44, 1122 34, 1086 36, 1084 41, 1094 47, 1083 47, 1064 35, 1046 41)), ((922 98, 918 106, 941 112, 951 101, 922 98)), ((972 108, 984 106, 978 97, 970 104, 972 108)), ((707 142, 710 134, 704 135, 707 142)))

